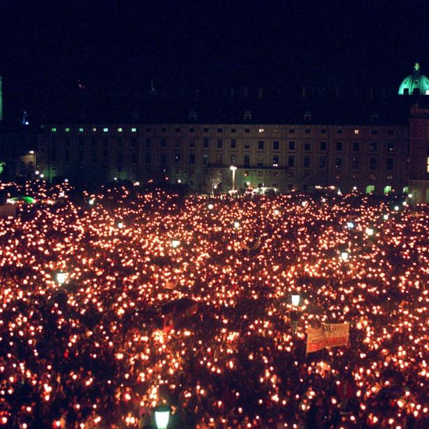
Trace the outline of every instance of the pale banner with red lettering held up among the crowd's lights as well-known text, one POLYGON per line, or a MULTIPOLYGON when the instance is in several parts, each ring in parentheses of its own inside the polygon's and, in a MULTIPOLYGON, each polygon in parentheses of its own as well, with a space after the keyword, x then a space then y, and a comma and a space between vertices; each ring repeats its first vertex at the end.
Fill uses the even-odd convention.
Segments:
POLYGON ((307 331, 306 353, 317 352, 325 347, 347 345, 349 327, 349 322, 324 323, 320 328, 309 327, 307 331))

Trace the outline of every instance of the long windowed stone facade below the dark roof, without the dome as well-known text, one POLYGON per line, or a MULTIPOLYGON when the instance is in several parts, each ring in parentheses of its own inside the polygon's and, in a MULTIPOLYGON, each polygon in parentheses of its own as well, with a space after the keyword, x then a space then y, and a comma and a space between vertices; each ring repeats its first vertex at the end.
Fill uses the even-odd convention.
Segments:
MULTIPOLYGON (((288 192, 405 192, 409 128, 311 123, 49 125, 38 166, 48 180, 171 180, 208 193, 269 187, 288 192)), ((189 118, 195 119, 191 112, 189 118)))

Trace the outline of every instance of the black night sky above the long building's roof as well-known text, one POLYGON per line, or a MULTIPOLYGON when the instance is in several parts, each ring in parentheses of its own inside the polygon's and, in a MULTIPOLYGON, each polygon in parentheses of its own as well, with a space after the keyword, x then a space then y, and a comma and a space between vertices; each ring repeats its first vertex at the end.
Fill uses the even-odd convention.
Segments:
POLYGON ((264 86, 300 70, 384 82, 414 61, 429 73, 428 16, 425 0, 3 0, 0 73, 20 92, 77 79, 264 86))

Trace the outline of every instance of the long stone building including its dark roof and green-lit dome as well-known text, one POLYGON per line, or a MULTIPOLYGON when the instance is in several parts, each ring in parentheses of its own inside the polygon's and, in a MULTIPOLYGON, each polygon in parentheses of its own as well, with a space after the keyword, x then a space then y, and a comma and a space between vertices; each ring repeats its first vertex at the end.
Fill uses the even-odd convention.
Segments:
POLYGON ((334 185, 375 194, 411 191, 414 201, 428 201, 428 114, 414 109, 407 122, 412 103, 426 98, 425 79, 416 65, 400 86, 409 97, 375 100, 371 89, 364 101, 338 94, 320 99, 303 88, 299 100, 285 102, 263 100, 261 90, 257 100, 233 104, 164 100, 173 114, 139 123, 45 125, 38 166, 49 180, 168 178, 196 192, 214 185, 226 192, 234 174, 238 190, 334 185))

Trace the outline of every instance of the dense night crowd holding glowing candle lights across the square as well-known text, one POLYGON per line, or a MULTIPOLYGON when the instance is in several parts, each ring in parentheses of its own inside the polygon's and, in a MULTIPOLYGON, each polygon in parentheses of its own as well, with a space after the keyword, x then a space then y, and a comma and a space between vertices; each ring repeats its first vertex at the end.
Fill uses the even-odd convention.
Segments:
POLYGON ((429 427, 428 205, 1 187, 0 428, 429 427))

